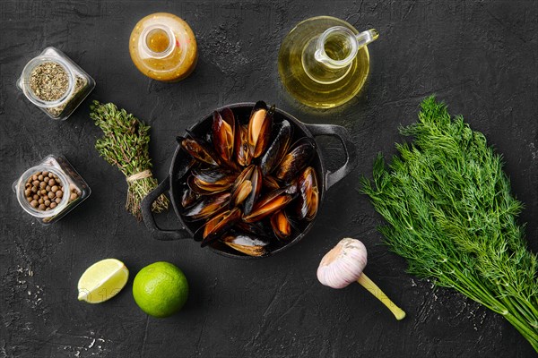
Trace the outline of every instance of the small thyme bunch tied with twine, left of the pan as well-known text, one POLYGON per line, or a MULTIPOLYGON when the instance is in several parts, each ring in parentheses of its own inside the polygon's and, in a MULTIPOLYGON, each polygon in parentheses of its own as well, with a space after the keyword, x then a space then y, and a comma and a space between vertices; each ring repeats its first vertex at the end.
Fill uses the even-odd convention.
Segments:
MULTIPOLYGON (((151 171, 150 126, 113 103, 102 104, 97 100, 90 105, 90 117, 103 131, 103 137, 95 142, 95 149, 126 175, 126 209, 141 220, 140 202, 158 184, 151 171)), ((168 209, 168 199, 161 195, 153 202, 152 211, 164 209, 168 209)))

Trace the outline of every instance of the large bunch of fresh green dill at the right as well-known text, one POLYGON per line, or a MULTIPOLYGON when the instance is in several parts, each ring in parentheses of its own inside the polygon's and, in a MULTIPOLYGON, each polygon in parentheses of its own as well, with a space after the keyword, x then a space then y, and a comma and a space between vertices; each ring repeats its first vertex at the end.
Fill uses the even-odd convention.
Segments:
POLYGON ((389 249, 409 273, 501 314, 538 352, 538 261, 516 222, 522 204, 501 157, 434 97, 400 132, 414 141, 396 144, 388 166, 379 155, 372 181, 361 179, 388 224, 379 230, 389 249))

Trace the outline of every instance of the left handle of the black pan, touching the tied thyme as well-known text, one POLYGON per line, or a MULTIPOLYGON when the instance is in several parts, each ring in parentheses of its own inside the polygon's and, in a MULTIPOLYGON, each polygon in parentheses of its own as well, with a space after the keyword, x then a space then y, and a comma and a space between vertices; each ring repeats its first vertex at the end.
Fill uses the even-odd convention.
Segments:
POLYGON ((170 177, 167 176, 162 183, 160 183, 155 189, 152 190, 152 192, 149 192, 145 198, 143 198, 142 202, 140 203, 143 223, 148 230, 150 230, 150 233, 156 240, 172 241, 191 238, 192 235, 184 227, 178 230, 164 230, 157 226, 157 223, 155 222, 155 217, 153 217, 152 213, 153 201, 157 200, 161 194, 168 192, 169 189, 170 177))

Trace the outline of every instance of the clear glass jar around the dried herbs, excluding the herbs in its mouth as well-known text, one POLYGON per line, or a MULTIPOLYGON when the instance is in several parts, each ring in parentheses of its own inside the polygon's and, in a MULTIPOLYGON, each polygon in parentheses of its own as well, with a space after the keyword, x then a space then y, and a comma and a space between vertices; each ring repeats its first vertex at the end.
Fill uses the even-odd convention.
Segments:
POLYGON ((30 60, 24 66, 21 77, 17 81, 17 87, 22 90, 24 96, 31 103, 39 107, 50 118, 65 120, 73 114, 84 98, 88 97, 95 88, 95 81, 84 72, 74 61, 55 47, 47 47, 37 57, 30 60), (65 93, 56 100, 43 100, 31 89, 30 80, 32 72, 41 64, 59 64, 68 77, 68 85, 65 93))

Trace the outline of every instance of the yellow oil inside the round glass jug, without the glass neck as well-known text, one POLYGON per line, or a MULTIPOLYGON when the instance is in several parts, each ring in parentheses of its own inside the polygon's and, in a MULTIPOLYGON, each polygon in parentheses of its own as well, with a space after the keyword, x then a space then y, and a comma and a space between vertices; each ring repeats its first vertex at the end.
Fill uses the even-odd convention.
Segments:
MULTIPOLYGON (((347 73, 334 83, 314 81, 305 72, 302 54, 308 43, 328 28, 344 26, 358 33, 345 21, 319 16, 299 23, 284 38, 279 52, 278 70, 282 83, 293 98, 309 107, 331 108, 343 105, 355 97, 362 89, 369 74, 369 53, 367 47, 361 47, 351 62, 347 73)), ((325 43, 325 53, 334 60, 341 60, 349 53, 344 42, 337 39, 325 43)))

